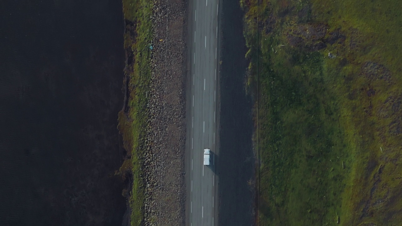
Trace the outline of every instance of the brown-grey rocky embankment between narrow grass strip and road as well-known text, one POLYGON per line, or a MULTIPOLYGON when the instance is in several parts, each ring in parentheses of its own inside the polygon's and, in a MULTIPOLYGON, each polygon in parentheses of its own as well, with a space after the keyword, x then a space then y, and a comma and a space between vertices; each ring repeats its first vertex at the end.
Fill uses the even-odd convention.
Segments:
POLYGON ((185 0, 154 0, 145 225, 185 224, 185 0))

